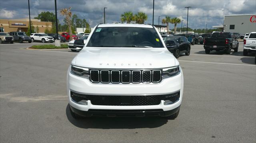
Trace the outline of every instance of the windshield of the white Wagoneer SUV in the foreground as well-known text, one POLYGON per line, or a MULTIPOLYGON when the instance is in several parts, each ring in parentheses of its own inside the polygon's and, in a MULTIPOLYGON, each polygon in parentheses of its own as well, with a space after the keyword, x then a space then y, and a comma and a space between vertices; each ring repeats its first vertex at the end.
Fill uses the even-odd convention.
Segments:
POLYGON ((87 47, 164 47, 160 38, 153 27, 98 27, 87 47))

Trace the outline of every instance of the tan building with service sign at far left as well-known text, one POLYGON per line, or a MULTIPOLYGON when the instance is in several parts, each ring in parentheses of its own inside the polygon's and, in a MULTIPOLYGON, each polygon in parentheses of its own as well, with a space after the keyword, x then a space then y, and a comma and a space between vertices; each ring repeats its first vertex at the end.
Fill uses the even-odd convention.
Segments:
MULTIPOLYGON (((41 22, 39 19, 30 19, 32 25, 35 27, 35 33, 44 33, 44 30, 47 28, 48 30, 52 29, 52 22, 41 22), (38 28, 36 28, 38 27, 38 28), (36 31, 38 29, 38 31, 36 31)), ((14 19, 14 20, 6 20, 0 19, 0 32, 27 32, 29 27, 29 19, 14 19)))

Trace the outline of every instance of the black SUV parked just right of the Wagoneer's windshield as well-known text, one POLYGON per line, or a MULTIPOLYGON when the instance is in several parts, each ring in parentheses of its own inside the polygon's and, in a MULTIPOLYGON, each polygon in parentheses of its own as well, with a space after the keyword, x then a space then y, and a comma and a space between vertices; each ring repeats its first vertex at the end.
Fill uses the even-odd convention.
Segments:
POLYGON ((167 49, 176 57, 180 57, 180 54, 185 53, 190 55, 190 42, 184 36, 169 36, 164 37, 164 43, 167 49))

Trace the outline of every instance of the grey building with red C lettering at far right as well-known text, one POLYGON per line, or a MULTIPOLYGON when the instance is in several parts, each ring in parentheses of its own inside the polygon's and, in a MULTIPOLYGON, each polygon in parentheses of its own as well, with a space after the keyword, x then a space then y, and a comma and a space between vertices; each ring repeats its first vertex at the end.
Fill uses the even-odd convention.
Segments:
POLYGON ((241 34, 256 31, 256 14, 224 16, 224 24, 212 26, 224 32, 237 32, 241 34))

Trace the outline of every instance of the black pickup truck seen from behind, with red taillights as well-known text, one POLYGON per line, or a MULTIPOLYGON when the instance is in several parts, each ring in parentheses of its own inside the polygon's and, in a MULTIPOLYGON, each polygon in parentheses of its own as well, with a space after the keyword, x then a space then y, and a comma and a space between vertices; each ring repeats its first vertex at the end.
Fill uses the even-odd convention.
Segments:
POLYGON ((230 32, 214 32, 210 38, 204 39, 205 53, 209 54, 210 51, 225 51, 226 54, 230 54, 231 49, 234 52, 238 51, 238 40, 233 33, 230 32))

